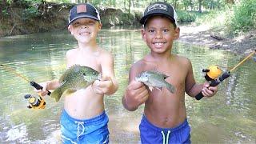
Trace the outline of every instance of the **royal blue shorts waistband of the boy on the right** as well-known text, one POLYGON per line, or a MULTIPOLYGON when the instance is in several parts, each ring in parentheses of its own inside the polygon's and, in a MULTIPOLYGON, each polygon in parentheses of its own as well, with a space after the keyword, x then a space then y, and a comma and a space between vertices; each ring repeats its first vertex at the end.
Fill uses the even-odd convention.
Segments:
POLYGON ((154 126, 152 123, 150 123, 147 119, 146 119, 146 115, 143 114, 142 116, 142 122, 145 122, 147 126, 149 126, 151 129, 153 130, 156 130, 156 131, 159 131, 161 132, 162 130, 164 131, 167 131, 167 130, 170 130, 171 132, 174 132, 176 130, 180 130, 182 129, 183 127, 187 126, 189 123, 187 122, 187 119, 184 120, 184 122, 182 122, 180 125, 178 126, 175 126, 173 128, 161 128, 161 127, 158 127, 158 126, 154 126))

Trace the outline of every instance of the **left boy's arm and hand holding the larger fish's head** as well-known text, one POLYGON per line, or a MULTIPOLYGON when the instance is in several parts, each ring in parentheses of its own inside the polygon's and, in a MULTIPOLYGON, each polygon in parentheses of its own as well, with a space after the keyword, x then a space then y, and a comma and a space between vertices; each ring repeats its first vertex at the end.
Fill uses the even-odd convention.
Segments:
POLYGON ((114 58, 112 54, 102 54, 102 78, 93 83, 94 91, 98 94, 114 94, 118 90, 118 82, 114 75, 114 58))

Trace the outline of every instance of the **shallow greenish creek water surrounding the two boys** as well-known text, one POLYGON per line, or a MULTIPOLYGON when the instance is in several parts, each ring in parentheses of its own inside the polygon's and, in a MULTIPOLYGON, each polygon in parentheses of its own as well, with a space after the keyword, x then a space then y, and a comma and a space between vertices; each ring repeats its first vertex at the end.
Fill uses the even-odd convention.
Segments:
MULTIPOLYGON (((98 43, 114 54, 118 91, 105 98, 110 122, 111 143, 139 143, 138 124, 143 106, 134 112, 122 106, 132 63, 149 52, 139 30, 102 30, 98 43)), ((67 31, 30 34, 0 39, 0 64, 9 66, 30 81, 44 82, 59 78, 66 69, 66 50, 76 45, 67 31)), ((241 56, 222 50, 189 46, 176 42, 173 52, 190 58, 194 77, 204 82, 202 69, 218 65, 230 70, 241 56)), ((196 101, 186 95, 186 108, 193 143, 256 142, 256 63, 249 60, 218 86, 214 98, 196 101)), ((34 88, 22 78, 0 68, 0 143, 59 143, 59 117, 62 100, 46 97, 45 110, 30 110, 24 94, 34 88)))

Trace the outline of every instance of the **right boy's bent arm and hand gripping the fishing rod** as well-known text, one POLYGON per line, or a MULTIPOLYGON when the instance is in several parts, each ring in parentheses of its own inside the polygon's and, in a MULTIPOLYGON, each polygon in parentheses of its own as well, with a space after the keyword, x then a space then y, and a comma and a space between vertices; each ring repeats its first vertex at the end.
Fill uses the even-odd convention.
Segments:
POLYGON ((186 74, 186 82, 185 82, 185 90, 186 94, 190 95, 190 97, 195 97, 202 91, 203 96, 212 97, 217 93, 218 86, 210 86, 209 83, 205 82, 203 84, 197 84, 194 80, 194 74, 192 69, 192 64, 188 61, 187 66, 188 72, 186 74))

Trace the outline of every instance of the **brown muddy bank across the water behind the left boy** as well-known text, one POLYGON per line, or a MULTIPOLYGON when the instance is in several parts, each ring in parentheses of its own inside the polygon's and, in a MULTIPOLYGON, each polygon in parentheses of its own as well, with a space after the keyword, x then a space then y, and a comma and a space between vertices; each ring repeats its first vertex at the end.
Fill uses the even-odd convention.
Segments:
MULTIPOLYGON (((0 15, 0 38, 18 34, 33 34, 66 29, 70 3, 13 4, 0 15)), ((140 14, 128 14, 120 9, 98 8, 103 26, 133 25, 140 14)))

